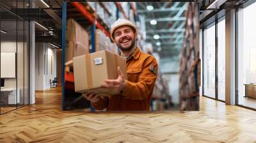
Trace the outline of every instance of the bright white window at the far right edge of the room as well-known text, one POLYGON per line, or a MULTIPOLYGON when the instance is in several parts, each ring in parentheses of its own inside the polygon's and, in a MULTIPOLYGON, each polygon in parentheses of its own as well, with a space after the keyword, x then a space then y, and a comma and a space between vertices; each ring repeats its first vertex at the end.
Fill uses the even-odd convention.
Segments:
POLYGON ((255 13, 256 3, 237 11, 237 100, 239 105, 253 109, 256 109, 256 96, 252 97, 248 92, 256 95, 255 13))

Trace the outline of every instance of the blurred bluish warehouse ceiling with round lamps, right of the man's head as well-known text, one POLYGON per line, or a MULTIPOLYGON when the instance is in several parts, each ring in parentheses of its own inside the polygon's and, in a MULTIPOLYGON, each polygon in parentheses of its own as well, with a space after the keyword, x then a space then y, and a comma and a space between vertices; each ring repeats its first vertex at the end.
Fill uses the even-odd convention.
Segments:
POLYGON ((161 58, 179 60, 179 51, 183 45, 186 18, 186 3, 184 2, 140 2, 136 3, 137 12, 145 17, 146 41, 152 43, 154 52, 161 58), (153 6, 153 10, 147 10, 153 6), (156 25, 151 25, 150 20, 157 20, 156 25), (158 34, 160 38, 154 39, 158 34), (157 46, 156 43, 161 45, 157 46), (161 50, 160 50, 161 49, 161 50))

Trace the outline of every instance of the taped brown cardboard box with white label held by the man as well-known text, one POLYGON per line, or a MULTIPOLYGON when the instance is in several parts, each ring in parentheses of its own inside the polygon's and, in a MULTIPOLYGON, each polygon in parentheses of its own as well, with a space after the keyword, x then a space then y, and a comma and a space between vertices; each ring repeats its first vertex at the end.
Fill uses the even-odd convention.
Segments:
POLYGON ((95 92, 100 96, 118 94, 111 89, 101 87, 104 80, 118 78, 118 66, 127 79, 126 60, 107 50, 74 57, 73 64, 75 91, 78 93, 95 92))

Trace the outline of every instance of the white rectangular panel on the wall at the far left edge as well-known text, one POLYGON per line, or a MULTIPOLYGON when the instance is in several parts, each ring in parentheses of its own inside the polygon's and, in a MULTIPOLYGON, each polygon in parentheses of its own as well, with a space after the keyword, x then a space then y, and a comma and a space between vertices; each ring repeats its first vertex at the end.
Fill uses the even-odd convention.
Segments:
POLYGON ((1 52, 1 78, 15 78, 15 52, 1 52))

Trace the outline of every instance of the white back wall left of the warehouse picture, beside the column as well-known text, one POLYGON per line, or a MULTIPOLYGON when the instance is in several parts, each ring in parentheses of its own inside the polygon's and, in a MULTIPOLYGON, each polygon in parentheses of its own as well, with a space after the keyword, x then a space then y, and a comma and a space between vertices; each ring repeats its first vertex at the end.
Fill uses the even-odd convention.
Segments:
POLYGON ((51 87, 50 79, 53 80, 56 77, 56 49, 52 48, 49 43, 36 43, 36 90, 49 89, 51 87))

